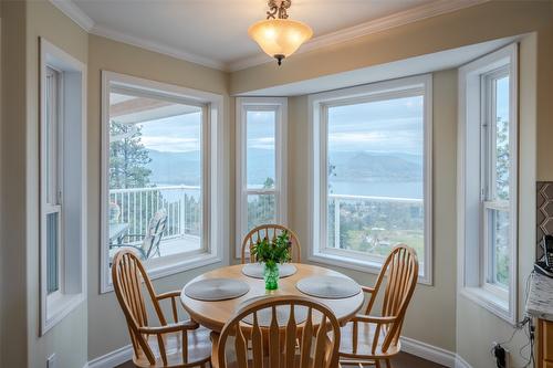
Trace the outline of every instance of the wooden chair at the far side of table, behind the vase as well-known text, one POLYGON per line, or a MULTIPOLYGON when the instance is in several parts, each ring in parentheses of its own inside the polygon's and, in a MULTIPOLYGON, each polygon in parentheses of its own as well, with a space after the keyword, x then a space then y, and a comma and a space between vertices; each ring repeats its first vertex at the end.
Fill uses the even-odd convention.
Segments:
POLYGON ((301 245, 295 232, 280 224, 267 223, 252 229, 244 236, 242 241, 242 264, 247 263, 248 257, 250 263, 257 262, 255 256, 251 253, 251 249, 253 248, 253 245, 255 245, 258 241, 261 241, 264 238, 269 239, 270 241, 273 241, 278 235, 280 235, 284 231, 286 231, 290 234, 290 241, 292 242, 291 261, 294 263, 301 263, 302 262, 301 245), (249 252, 249 256, 247 254, 247 251, 249 252))

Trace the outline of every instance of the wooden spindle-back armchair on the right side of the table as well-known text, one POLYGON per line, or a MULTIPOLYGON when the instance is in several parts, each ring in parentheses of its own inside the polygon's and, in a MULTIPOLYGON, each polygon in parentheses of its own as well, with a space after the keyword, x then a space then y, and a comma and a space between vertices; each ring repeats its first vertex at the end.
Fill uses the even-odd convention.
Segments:
POLYGON ((380 368, 380 364, 385 362, 387 368, 392 367, 390 357, 401 349, 399 335, 417 278, 418 260, 415 250, 404 244, 395 246, 386 259, 375 286, 362 287, 365 293, 371 294, 365 314, 356 315, 342 327, 341 365, 380 368), (372 308, 382 287, 382 313, 373 316, 372 308))

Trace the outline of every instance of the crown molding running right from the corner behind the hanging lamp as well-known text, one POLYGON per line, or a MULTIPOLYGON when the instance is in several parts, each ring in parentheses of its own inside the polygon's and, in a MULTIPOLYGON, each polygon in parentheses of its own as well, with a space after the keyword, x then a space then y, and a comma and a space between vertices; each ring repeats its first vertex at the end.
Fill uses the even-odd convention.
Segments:
MULTIPOLYGON (((453 12, 465 8, 478 6, 490 0, 439 0, 426 3, 416 8, 397 12, 392 15, 378 18, 365 23, 349 27, 336 32, 316 36, 303 44, 295 54, 302 54, 313 50, 319 50, 333 44, 347 42, 356 38, 365 36, 372 33, 382 32, 392 28, 414 23, 431 17, 453 12)), ((272 62, 272 59, 265 54, 258 54, 244 57, 227 65, 230 72, 237 72, 251 66, 272 62)))

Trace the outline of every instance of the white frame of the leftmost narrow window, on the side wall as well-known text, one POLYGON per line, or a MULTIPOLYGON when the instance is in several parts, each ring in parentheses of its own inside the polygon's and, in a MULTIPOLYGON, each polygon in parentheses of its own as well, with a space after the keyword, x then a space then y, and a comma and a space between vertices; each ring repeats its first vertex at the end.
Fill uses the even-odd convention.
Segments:
POLYGON ((86 299, 86 65, 40 39, 40 334, 86 299), (46 143, 49 69, 58 76, 55 137, 46 143), (46 192, 46 147, 55 146, 54 193, 46 192), (70 157, 71 156, 71 157, 70 157), (53 196, 52 196, 53 194, 53 196), (53 199, 52 199, 53 197, 53 199), (59 290, 48 293, 46 219, 59 213, 59 290))

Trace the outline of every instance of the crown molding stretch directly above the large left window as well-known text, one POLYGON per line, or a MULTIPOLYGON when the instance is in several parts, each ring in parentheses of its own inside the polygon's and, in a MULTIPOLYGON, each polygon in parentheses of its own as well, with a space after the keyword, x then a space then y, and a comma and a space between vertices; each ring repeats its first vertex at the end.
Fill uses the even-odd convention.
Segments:
POLYGON ((190 63, 199 64, 202 66, 217 69, 220 71, 227 71, 227 64, 213 59, 200 56, 190 52, 182 51, 177 48, 168 46, 160 42, 154 42, 146 39, 136 38, 134 35, 129 35, 119 31, 115 31, 109 29, 108 27, 102 24, 94 24, 91 29, 90 33, 100 35, 106 39, 111 39, 114 41, 123 42, 131 44, 133 46, 137 46, 140 49, 145 49, 148 51, 157 52, 160 54, 165 54, 171 57, 180 59, 190 63))

